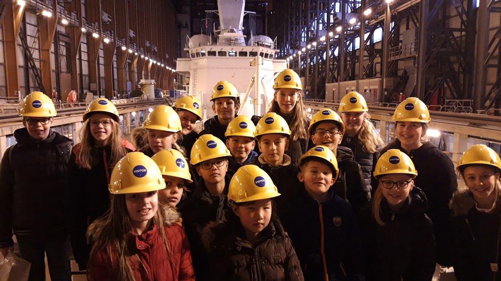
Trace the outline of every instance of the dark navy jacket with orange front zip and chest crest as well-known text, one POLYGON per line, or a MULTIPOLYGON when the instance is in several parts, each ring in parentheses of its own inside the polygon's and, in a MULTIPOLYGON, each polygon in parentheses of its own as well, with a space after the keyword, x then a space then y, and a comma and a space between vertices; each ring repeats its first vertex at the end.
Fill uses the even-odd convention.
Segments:
POLYGON ((319 202, 302 186, 282 216, 306 280, 364 280, 358 218, 351 204, 329 190, 319 202))

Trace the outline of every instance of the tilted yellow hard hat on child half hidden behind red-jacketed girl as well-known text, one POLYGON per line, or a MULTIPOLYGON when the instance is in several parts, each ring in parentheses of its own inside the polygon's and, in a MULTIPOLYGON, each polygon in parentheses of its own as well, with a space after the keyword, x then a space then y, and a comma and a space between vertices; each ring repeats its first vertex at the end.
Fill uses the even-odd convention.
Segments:
POLYGON ((183 154, 176 149, 160 150, 151 158, 157 163, 162 175, 184 178, 190 183, 193 182, 189 173, 188 162, 186 162, 183 154))

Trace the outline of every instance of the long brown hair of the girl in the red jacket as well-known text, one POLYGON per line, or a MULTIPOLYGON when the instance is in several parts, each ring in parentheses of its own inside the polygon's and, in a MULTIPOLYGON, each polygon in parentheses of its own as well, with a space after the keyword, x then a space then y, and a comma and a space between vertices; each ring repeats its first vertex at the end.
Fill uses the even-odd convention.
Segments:
MULTIPOLYGON (((128 240, 132 224, 130 223, 129 214, 127 212, 127 205, 125 202, 126 194, 114 194, 111 198, 110 210, 102 217, 98 218, 87 228, 87 237, 93 243, 89 266, 87 266, 87 279, 92 280, 94 258, 100 251, 106 251, 106 254, 111 258, 116 257, 116 275, 117 280, 135 280, 132 268, 128 257, 130 256, 128 240)), ((169 245, 167 243, 167 235, 163 226, 163 209, 167 207, 163 204, 158 204, 158 210, 152 218, 152 222, 158 227, 160 235, 167 253, 170 255, 169 245)), ((136 258, 139 256, 134 255, 136 258)), ((134 257, 133 256, 133 257, 134 257)), ((178 275, 175 272, 176 267, 172 266, 172 260, 169 258, 172 267, 172 277, 178 275)))

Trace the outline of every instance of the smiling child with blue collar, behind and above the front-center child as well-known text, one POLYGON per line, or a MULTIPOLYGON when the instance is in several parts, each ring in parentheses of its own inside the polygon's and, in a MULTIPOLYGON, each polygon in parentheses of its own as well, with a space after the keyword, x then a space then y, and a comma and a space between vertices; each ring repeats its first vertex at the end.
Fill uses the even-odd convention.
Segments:
POLYGON ((245 115, 240 115, 229 122, 224 135, 226 136, 226 146, 232 155, 229 158, 229 169, 233 172, 258 157, 258 153, 254 151, 255 131, 256 126, 245 115))

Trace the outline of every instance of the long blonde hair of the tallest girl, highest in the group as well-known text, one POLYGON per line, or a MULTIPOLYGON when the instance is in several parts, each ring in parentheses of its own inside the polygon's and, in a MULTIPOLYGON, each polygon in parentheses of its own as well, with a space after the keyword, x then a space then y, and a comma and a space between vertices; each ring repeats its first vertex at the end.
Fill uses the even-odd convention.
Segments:
MULTIPOLYGON (((280 88, 275 90, 273 94, 272 105, 268 112, 275 112, 280 114, 280 106, 279 103, 275 100, 276 94, 280 91, 280 88)), ((296 90, 296 94, 298 95, 298 100, 296 101, 296 105, 292 111, 292 118, 289 127, 291 128, 291 141, 296 141, 298 138, 308 139, 308 132, 306 131, 306 126, 308 119, 305 114, 304 104, 303 104, 303 91, 296 90)))

